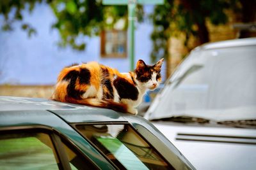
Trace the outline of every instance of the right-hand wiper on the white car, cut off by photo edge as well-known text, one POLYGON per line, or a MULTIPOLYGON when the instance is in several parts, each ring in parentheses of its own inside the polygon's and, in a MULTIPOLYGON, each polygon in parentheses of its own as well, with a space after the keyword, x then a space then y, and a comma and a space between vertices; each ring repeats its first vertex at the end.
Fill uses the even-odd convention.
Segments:
POLYGON ((256 119, 251 120, 228 120, 217 122, 217 124, 228 125, 232 127, 256 128, 256 119))

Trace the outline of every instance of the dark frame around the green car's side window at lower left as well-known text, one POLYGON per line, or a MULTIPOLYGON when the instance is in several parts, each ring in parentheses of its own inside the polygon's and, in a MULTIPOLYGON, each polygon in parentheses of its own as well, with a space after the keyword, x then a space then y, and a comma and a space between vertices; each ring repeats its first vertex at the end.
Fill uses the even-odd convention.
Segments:
MULTIPOLYGON (((58 164, 59 169, 67 169, 71 170, 70 161, 68 160, 67 151, 64 148, 66 145, 72 152, 76 153, 81 159, 86 161, 88 164, 93 166, 93 169, 100 169, 89 157, 86 157, 81 150, 74 145, 74 143, 68 139, 65 135, 61 134, 61 132, 56 131, 51 127, 47 127, 45 125, 22 125, 15 127, 0 127, 0 135, 1 134, 35 134, 35 133, 44 133, 49 136, 52 143, 52 152, 56 153, 56 157, 58 157, 60 164, 58 164)), ((54 155, 54 153, 52 153, 54 155)), ((55 155, 54 155, 55 156, 55 155)), ((57 163, 57 162, 56 162, 57 163)))

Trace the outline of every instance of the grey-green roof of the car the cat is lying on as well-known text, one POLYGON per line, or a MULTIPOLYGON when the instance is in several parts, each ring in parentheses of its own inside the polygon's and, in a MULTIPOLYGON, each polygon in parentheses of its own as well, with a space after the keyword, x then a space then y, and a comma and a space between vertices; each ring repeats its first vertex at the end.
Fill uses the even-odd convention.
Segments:
MULTIPOLYGON (((118 113, 113 110, 83 106, 78 104, 60 103, 47 99, 26 98, 26 97, 7 97, 0 96, 0 130, 15 130, 28 128, 50 128, 56 132, 61 132, 69 138, 74 139, 74 143, 84 141, 80 140, 78 134, 72 129, 70 124, 80 123, 93 124, 131 124, 140 134, 147 134, 147 140, 154 143, 158 138, 165 145, 163 150, 170 150, 170 157, 173 164, 178 167, 186 166, 193 169, 189 161, 168 141, 166 137, 159 132, 154 125, 140 116, 134 116, 129 113, 118 113), (64 123, 67 122, 68 124, 64 123), (141 128, 144 127, 144 128, 141 128), (151 133, 148 133, 151 132, 151 133)), ((81 147, 81 143, 79 144, 81 147)), ((168 153, 169 154, 169 153, 168 153)))

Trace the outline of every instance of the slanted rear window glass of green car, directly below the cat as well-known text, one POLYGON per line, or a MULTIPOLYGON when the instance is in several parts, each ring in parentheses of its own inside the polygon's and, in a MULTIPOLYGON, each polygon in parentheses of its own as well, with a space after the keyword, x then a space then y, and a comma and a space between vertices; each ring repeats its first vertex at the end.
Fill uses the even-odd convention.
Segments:
POLYGON ((130 125, 77 125, 116 166, 125 169, 172 169, 130 125))

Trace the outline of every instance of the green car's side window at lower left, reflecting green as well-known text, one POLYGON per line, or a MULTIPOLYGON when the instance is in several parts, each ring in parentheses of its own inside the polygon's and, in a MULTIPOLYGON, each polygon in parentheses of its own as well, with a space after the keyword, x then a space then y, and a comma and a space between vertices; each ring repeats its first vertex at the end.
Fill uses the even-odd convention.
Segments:
MULTIPOLYGON (((71 143, 56 134, 6 131, 0 135, 1 169, 63 169, 60 160, 68 162, 72 170, 98 169, 71 143)), ((68 166, 64 162, 63 165, 68 166)))

